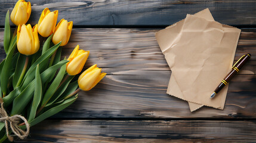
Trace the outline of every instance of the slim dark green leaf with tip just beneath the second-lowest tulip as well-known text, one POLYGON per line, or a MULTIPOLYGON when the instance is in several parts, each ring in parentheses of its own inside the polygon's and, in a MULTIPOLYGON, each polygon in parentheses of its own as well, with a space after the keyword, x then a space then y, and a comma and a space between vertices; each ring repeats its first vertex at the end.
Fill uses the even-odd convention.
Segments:
POLYGON ((57 91, 54 93, 53 97, 51 97, 51 99, 48 101, 48 103, 45 105, 45 107, 53 104, 58 99, 58 97, 60 97, 60 95, 63 94, 63 92, 67 89, 67 86, 73 79, 73 77, 74 76, 67 77, 66 81, 64 81, 62 83, 62 85, 57 89, 57 91))

